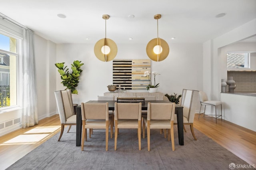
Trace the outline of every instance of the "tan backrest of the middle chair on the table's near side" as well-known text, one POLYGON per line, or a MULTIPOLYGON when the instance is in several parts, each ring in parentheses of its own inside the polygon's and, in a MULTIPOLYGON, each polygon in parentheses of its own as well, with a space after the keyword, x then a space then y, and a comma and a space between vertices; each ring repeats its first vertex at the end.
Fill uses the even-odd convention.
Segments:
POLYGON ((115 120, 138 119, 141 121, 141 103, 115 103, 115 120))

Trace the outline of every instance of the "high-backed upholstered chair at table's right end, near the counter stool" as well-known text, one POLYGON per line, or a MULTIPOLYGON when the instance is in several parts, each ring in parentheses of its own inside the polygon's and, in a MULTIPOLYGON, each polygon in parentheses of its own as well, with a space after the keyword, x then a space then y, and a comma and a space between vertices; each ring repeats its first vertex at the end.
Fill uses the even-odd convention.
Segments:
MULTIPOLYGON (((182 90, 181 106, 183 106, 183 128, 186 132, 184 125, 190 125, 190 131, 194 140, 196 136, 194 134, 194 116, 196 113, 196 107, 198 103, 198 92, 197 90, 182 90)), ((177 116, 174 117, 174 125, 177 125, 177 116)))

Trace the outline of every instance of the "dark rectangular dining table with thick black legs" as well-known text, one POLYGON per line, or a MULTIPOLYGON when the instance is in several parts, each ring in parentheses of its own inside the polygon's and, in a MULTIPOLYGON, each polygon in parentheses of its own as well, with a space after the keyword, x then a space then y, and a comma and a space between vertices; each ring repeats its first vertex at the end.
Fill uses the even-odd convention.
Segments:
MULTIPOLYGON (((114 111, 115 102, 117 101, 90 100, 90 101, 87 101, 86 103, 108 103, 108 110, 114 111)), ((148 109, 148 103, 170 103, 170 102, 165 100, 145 101, 145 102, 142 102, 142 111, 146 111, 148 109)), ((179 144, 184 145, 183 107, 176 104, 175 114, 177 115, 179 144)), ((76 146, 81 146, 81 136, 82 136, 82 115, 81 115, 81 105, 78 105, 76 107, 76 146)))

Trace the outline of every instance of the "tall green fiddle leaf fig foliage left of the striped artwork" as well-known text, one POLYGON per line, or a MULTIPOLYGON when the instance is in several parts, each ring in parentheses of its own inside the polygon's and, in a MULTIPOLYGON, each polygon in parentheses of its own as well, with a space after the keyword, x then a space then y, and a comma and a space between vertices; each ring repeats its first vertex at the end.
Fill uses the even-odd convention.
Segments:
POLYGON ((69 73, 68 68, 67 66, 64 66, 64 63, 55 63, 55 66, 60 73, 60 79, 62 79, 61 83, 67 87, 66 89, 70 89, 72 94, 78 94, 76 87, 79 83, 79 76, 82 73, 82 69, 80 68, 82 65, 84 65, 84 63, 81 63, 81 61, 74 61, 73 64, 71 64, 72 73, 69 73))

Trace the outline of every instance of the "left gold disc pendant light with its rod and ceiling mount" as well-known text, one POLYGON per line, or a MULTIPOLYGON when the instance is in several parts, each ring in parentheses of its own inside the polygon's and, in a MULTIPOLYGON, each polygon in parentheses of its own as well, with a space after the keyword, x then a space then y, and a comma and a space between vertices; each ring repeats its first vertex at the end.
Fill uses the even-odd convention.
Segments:
POLYGON ((116 43, 106 38, 106 20, 110 18, 109 15, 102 15, 102 18, 105 20, 105 38, 100 39, 94 45, 94 54, 100 61, 111 61, 116 57, 117 46, 116 43))

